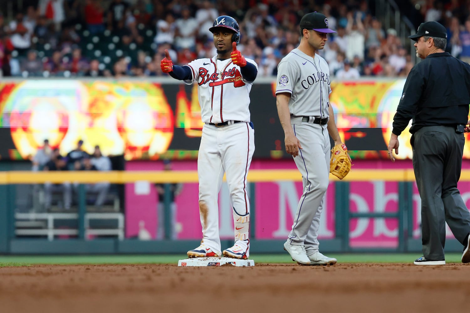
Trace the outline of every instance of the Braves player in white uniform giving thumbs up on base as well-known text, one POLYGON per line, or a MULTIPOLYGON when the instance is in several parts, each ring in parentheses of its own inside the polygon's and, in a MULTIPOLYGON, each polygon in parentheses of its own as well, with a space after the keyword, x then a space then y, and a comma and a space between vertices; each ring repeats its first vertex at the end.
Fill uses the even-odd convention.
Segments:
POLYGON ((221 256, 247 259, 250 254, 250 202, 247 174, 255 150, 250 120, 251 84, 258 74, 255 61, 244 58, 236 45, 240 28, 234 18, 219 16, 209 29, 217 55, 197 59, 185 66, 173 65, 165 50, 162 71, 186 84, 199 85, 198 98, 204 122, 197 158, 199 212, 203 240, 189 258, 221 256), (218 195, 224 173, 230 192, 235 223, 235 244, 221 251, 218 195))

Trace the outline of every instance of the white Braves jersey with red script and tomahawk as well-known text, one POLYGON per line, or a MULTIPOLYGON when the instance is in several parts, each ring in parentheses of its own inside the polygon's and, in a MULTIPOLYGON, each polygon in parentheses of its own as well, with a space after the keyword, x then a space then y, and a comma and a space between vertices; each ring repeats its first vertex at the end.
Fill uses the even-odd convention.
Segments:
MULTIPOLYGON (((256 69, 255 61, 245 58, 256 69)), ((201 118, 205 123, 221 123, 225 121, 251 122, 250 91, 253 82, 242 78, 240 67, 231 59, 217 60, 197 59, 188 63, 192 79, 186 84, 197 81, 197 94, 201 106, 201 118)))

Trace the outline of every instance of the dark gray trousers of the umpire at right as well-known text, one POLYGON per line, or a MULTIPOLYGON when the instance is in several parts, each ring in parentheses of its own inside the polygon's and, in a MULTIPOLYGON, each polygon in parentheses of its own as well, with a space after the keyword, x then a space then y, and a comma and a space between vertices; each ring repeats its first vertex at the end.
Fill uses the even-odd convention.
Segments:
POLYGON ((444 260, 445 222, 461 243, 470 232, 470 213, 457 189, 465 137, 454 127, 426 126, 416 131, 411 143, 421 196, 423 255, 444 260))

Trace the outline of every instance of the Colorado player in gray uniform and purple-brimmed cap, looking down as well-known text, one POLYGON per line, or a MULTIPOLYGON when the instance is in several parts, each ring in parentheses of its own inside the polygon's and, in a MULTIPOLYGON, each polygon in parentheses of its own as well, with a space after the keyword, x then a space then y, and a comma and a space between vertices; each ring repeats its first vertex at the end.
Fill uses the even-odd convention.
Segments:
POLYGON ((328 64, 316 51, 323 49, 327 34, 334 32, 328 28, 325 15, 304 15, 300 45, 282 59, 277 70, 276 105, 286 152, 294 157, 304 187, 284 250, 304 265, 337 262, 318 251, 317 239, 329 184, 329 135, 335 145, 341 144, 341 138, 329 106, 328 64))

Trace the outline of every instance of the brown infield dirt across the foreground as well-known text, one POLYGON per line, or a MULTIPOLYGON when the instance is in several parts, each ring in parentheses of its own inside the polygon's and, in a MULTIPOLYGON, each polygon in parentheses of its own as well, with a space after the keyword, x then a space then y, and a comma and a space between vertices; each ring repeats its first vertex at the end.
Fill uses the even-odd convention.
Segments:
POLYGON ((0 268, 1 313, 468 312, 470 266, 0 268))

